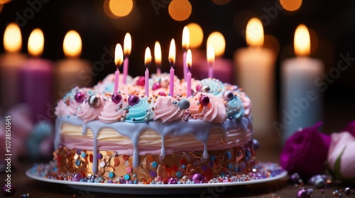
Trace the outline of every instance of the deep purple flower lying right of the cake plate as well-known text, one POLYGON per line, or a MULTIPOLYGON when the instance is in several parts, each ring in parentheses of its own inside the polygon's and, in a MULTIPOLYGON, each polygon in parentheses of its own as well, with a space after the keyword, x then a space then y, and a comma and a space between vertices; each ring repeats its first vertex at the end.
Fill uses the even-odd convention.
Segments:
POLYGON ((301 177, 324 173, 331 139, 329 135, 318 132, 321 125, 322 122, 318 122, 288 138, 280 156, 282 168, 301 177))

